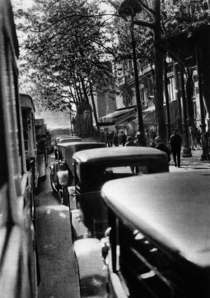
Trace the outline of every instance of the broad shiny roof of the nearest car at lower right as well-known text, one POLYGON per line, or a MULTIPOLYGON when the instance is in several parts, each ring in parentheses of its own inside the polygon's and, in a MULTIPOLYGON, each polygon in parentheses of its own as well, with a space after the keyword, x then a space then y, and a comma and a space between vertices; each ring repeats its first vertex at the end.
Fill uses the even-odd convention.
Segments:
POLYGON ((123 221, 190 262, 209 267, 209 176, 203 170, 136 176, 106 182, 101 192, 123 221))

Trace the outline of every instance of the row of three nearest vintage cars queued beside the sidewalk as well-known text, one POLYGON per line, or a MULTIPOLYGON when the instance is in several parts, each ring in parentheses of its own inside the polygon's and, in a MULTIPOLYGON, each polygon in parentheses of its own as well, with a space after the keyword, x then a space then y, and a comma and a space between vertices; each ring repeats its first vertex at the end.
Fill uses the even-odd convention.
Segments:
POLYGON ((81 297, 209 297, 208 176, 198 191, 160 150, 73 139, 57 144, 51 186, 70 209, 81 297))

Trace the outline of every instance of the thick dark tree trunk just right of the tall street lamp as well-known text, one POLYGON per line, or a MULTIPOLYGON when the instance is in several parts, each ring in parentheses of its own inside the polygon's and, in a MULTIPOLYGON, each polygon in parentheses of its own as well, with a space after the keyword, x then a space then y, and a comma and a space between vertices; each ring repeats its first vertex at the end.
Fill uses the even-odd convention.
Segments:
MULTIPOLYGON (((154 25, 154 44, 156 45, 161 37, 160 34, 160 0, 155 0, 155 25, 154 25)), ((163 54, 154 47, 154 64, 155 64, 155 100, 157 112, 157 131, 164 143, 167 143, 167 132, 163 108, 163 54)))

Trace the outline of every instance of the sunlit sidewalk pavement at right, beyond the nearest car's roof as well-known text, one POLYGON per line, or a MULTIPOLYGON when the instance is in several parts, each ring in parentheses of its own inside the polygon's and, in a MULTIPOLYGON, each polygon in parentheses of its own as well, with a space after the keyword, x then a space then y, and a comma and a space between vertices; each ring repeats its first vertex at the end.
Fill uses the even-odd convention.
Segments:
MULTIPOLYGON (((183 151, 181 150, 181 167, 189 169, 210 169, 210 161, 200 160, 200 153, 201 150, 192 150, 192 157, 182 157, 183 151)), ((172 153, 170 166, 174 166, 172 153)))

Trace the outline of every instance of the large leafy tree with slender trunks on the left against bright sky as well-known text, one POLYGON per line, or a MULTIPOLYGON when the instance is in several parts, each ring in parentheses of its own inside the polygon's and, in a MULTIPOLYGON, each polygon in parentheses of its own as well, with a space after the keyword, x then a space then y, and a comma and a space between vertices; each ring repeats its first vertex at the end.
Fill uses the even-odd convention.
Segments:
MULTIPOLYGON (((107 92, 115 85, 107 66, 108 55, 113 55, 107 45, 109 26, 98 12, 96 2, 85 0, 37 0, 32 8, 16 12, 16 18, 26 20, 19 22, 18 29, 28 33, 21 45, 26 53, 20 73, 25 75, 26 83, 31 82, 30 94, 35 95, 36 104, 63 111, 70 100, 81 117, 89 110, 90 134, 93 120, 89 96, 94 109, 95 86, 107 92), (98 78, 103 78, 100 84, 98 78)), ((94 115, 98 124, 95 109, 94 115)))

